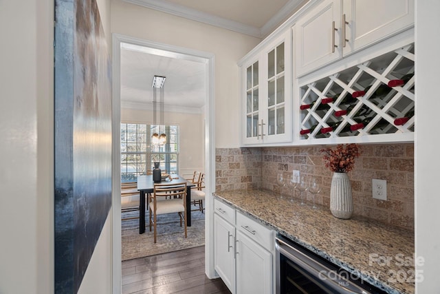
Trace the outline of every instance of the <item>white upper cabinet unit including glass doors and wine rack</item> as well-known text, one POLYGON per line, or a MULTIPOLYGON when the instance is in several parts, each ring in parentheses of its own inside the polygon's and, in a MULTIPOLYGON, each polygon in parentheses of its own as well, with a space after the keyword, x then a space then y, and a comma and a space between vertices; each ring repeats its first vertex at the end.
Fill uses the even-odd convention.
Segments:
POLYGON ((241 146, 413 140, 415 78, 375 92, 414 74, 414 17, 415 0, 307 2, 238 63, 241 146))

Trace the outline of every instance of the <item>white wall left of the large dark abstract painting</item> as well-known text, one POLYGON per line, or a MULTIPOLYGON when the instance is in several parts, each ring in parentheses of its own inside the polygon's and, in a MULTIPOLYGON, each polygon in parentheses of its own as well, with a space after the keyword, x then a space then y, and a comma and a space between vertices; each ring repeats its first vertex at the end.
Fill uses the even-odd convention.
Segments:
POLYGON ((53 293, 53 0, 0 1, 0 293, 53 293))

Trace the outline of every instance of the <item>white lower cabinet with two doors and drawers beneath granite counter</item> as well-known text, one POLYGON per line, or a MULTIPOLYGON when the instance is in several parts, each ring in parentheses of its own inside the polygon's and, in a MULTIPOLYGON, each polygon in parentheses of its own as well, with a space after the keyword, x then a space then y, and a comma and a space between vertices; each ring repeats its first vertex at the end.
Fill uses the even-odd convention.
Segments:
POLYGON ((273 293, 273 231, 231 210, 214 199, 215 271, 232 293, 273 293))

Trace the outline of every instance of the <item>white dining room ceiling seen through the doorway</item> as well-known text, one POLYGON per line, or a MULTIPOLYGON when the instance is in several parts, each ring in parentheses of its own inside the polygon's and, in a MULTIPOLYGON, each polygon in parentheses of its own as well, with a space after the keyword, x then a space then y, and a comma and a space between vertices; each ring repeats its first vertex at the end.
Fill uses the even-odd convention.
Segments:
POLYGON ((121 101, 152 107, 153 76, 166 76, 164 103, 200 109, 205 102, 205 64, 158 55, 137 45, 121 50, 121 101))

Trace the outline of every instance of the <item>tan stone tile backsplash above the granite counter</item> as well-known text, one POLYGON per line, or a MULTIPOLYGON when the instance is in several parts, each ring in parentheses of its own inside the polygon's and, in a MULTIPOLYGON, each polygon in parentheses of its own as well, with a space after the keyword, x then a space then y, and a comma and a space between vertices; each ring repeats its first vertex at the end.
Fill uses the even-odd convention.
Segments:
MULTIPOLYGON (((333 173, 324 165, 322 147, 218 148, 216 191, 262 188, 279 192, 277 174, 290 176, 297 169, 303 175, 318 178, 322 189, 315 201, 329 207, 333 173)), ((356 158, 355 167, 349 172, 353 213, 414 230, 414 145, 360 145, 360 151, 361 156, 356 158), (386 201, 373 199, 373 178, 386 180, 386 201)), ((294 196, 291 187, 283 187, 281 192, 294 196)), ((310 194, 307 200, 311 200, 310 194)))

